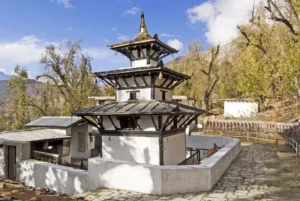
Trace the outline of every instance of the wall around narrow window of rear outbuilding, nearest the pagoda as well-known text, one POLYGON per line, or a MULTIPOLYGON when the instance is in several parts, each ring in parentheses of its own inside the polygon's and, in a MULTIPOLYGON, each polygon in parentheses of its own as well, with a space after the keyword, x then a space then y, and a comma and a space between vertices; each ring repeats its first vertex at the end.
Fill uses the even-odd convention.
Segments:
POLYGON ((91 149, 89 148, 89 132, 91 132, 91 126, 89 124, 77 125, 73 126, 71 130, 71 150, 70 157, 71 158, 90 158, 91 157, 91 149), (85 133, 85 152, 78 151, 78 133, 85 133))

